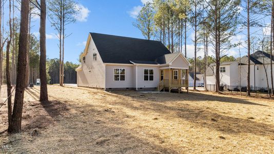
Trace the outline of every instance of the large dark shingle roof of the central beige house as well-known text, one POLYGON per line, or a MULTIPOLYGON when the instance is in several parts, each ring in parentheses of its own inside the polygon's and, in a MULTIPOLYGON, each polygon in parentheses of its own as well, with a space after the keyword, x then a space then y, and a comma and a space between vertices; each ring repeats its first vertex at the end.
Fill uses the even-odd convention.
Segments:
POLYGON ((161 42, 139 38, 90 33, 104 63, 131 64, 155 62, 157 57, 171 53, 161 42))

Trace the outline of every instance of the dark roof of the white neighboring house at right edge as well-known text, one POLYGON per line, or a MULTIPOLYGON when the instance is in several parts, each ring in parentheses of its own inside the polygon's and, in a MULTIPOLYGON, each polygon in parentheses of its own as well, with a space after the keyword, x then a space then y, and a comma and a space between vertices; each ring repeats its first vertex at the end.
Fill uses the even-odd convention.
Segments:
MULTIPOLYGON (((245 58, 242 59, 242 63, 247 64, 247 55, 244 57, 245 58)), ((273 55, 272 55, 272 60, 274 60, 273 55)), ((270 54, 262 51, 256 51, 250 54, 250 61, 251 61, 251 64, 263 64, 263 63, 270 64, 270 54)))

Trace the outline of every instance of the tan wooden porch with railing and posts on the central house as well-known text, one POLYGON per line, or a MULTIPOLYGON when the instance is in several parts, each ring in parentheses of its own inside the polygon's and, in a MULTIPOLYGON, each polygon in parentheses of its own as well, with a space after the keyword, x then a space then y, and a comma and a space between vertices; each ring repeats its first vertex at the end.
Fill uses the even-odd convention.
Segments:
POLYGON ((158 91, 177 89, 180 93, 185 87, 188 93, 188 69, 184 68, 160 68, 160 82, 158 91))

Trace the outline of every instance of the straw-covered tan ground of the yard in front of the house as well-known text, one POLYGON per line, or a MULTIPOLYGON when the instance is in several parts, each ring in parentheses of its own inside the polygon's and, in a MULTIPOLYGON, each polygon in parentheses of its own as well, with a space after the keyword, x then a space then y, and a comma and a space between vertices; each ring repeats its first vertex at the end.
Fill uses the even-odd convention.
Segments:
MULTIPOLYGON (((25 92, 23 132, 2 133, 0 144, 12 145, 4 151, 274 153, 273 100, 193 91, 60 86, 48 86, 48 91, 50 102, 43 104, 37 101, 39 87, 25 92), (33 129, 38 133, 33 135, 33 129)), ((2 87, 1 102, 5 92, 2 87)), ((0 109, 0 131, 7 128, 6 106, 0 109)))

